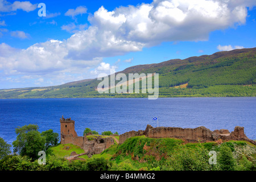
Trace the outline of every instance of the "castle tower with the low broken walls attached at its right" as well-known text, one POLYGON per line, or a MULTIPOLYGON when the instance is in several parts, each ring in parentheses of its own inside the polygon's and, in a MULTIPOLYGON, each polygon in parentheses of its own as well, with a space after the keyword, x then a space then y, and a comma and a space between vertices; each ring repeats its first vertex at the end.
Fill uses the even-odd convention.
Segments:
POLYGON ((75 131, 75 121, 71 120, 71 118, 65 119, 62 116, 62 118, 60 118, 60 143, 75 144, 81 147, 88 156, 92 156, 93 154, 100 154, 102 151, 106 150, 106 148, 109 148, 114 144, 114 139, 98 136, 97 138, 88 140, 86 135, 78 137, 75 131))

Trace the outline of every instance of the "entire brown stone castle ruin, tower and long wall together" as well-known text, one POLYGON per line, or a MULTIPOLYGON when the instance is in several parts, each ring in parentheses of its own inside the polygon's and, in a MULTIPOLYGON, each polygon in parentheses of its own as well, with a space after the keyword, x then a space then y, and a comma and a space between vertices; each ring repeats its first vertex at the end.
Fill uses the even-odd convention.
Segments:
MULTIPOLYGON (((97 136, 93 140, 88 140, 86 135, 78 137, 75 131, 75 121, 71 118, 60 118, 61 144, 72 143, 81 147, 90 157, 93 154, 100 154, 114 144, 114 139, 110 137, 102 138, 97 136)), ((145 135, 149 138, 178 138, 185 142, 216 142, 218 140, 245 140, 256 145, 254 140, 246 137, 244 128, 236 126, 234 131, 221 129, 211 131, 204 126, 195 129, 183 129, 181 127, 152 127, 147 125, 146 130, 129 131, 119 135, 119 142, 122 144, 126 139, 145 135)))

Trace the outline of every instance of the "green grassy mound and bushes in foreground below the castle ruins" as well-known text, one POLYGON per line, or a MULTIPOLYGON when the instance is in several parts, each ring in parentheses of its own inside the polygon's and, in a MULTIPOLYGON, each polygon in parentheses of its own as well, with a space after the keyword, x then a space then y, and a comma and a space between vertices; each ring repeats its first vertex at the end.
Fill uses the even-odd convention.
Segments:
POLYGON ((175 138, 131 137, 101 154, 63 157, 84 150, 59 144, 46 151, 46 164, 17 154, 0 160, 0 171, 255 171, 256 146, 245 141, 185 143, 175 138))

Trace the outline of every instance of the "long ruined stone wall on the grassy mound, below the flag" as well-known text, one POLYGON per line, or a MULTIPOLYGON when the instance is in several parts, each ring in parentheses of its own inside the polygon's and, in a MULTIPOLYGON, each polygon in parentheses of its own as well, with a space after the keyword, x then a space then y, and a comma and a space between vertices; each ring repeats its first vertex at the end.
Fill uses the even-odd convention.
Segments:
POLYGON ((221 129, 211 131, 204 126, 195 129, 183 129, 181 127, 152 127, 147 125, 146 130, 129 131, 119 137, 119 143, 125 142, 127 138, 145 135, 149 138, 179 138, 187 142, 210 142, 222 140, 246 140, 256 144, 254 140, 246 137, 243 127, 236 126, 234 131, 221 129))

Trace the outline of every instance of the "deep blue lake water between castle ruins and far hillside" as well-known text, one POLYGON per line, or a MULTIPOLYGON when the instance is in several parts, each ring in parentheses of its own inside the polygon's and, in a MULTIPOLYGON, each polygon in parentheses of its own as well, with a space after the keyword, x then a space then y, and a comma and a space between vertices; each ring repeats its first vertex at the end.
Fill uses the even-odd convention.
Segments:
POLYGON ((256 139, 256 97, 218 98, 47 98, 0 100, 0 137, 12 143, 15 128, 36 124, 39 131, 60 134, 60 118, 75 121, 77 135, 86 127, 98 131, 144 130, 147 124, 210 130, 245 127, 248 138, 256 139))

